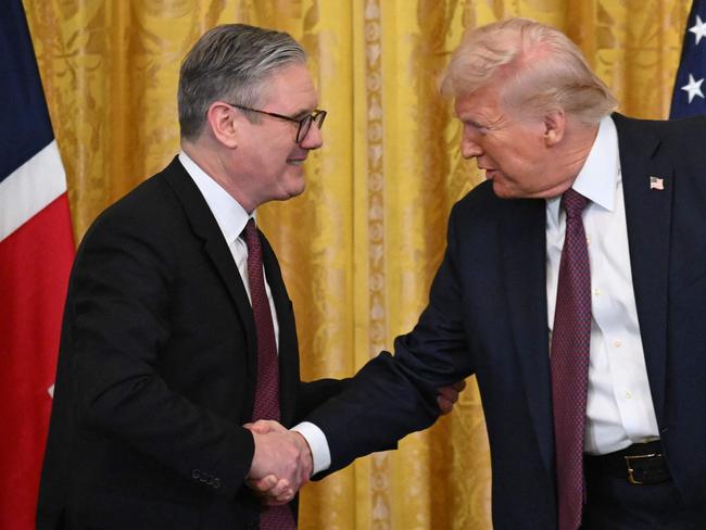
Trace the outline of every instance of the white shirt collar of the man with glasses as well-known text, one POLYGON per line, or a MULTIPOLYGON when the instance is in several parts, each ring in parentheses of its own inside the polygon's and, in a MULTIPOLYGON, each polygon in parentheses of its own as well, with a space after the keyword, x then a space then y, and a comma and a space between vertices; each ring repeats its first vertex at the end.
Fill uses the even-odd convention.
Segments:
MULTIPOLYGON (((230 244, 240 237, 251 216, 230 193, 201 169, 184 151, 179 153, 179 162, 181 162, 181 165, 201 191, 211 213, 216 218, 220 231, 228 244, 230 244)), ((254 215, 253 212, 252 217, 254 215)))

